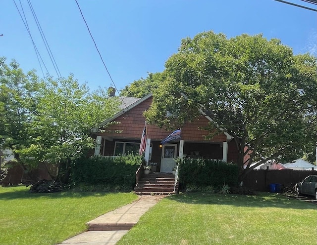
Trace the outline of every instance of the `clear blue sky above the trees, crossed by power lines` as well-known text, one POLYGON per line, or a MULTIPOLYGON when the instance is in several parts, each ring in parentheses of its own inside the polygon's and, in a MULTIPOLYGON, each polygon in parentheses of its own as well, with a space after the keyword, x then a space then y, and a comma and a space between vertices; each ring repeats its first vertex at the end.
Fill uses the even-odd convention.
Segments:
MULTIPOLYGON (((291 1, 291 0, 290 0, 291 1)), ((20 0, 15 0, 20 11, 20 0)), ((75 0, 30 0, 63 77, 73 73, 94 90, 111 84, 75 0)), ((317 5, 292 0, 317 9, 317 5)), ((21 0, 30 32, 53 77, 57 77, 28 1, 21 0)), ((317 55, 317 12, 274 0, 78 0, 118 89, 161 72, 181 39, 212 30, 228 38, 262 33, 317 55)), ((0 2, 0 56, 43 78, 32 41, 14 0, 0 2)), ((43 64, 42 64, 43 66, 43 64)), ((44 69, 44 73, 46 71, 44 69)))

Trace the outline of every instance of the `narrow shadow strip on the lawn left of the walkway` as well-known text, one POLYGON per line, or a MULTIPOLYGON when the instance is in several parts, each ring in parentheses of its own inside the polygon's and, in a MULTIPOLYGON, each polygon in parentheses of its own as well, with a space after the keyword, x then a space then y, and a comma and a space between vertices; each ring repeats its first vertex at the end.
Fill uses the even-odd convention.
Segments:
POLYGON ((0 192, 0 200, 13 200, 13 199, 38 199, 38 198, 83 198, 83 197, 103 197, 113 193, 110 192, 54 192, 54 193, 31 193, 29 188, 21 189, 21 187, 2 187, 6 190, 0 192))

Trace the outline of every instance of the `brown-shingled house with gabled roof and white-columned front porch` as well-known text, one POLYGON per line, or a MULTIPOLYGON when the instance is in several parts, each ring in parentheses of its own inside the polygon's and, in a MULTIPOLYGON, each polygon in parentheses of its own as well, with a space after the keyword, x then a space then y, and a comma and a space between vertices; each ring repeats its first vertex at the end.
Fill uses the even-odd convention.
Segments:
MULTIPOLYGON (((124 100, 124 97, 122 98, 124 100)), ((130 98, 130 101, 133 101, 130 98)), ((95 155, 120 156, 129 152, 138 153, 141 135, 146 119, 143 112, 152 103, 152 94, 137 99, 132 104, 126 104, 112 118, 99 124, 100 132, 96 135, 95 155), (115 123, 113 123, 115 122, 115 123), (106 126, 108 123, 112 123, 106 126)), ((147 125, 147 141, 145 159, 147 162, 158 163, 159 172, 172 172, 177 157, 207 158, 225 162, 236 162, 237 149, 232 137, 220 133, 212 139, 205 139, 208 131, 203 128, 211 119, 202 115, 193 123, 185 123, 181 128, 181 140, 161 144, 171 131, 166 131, 156 125, 147 125)), ((174 130, 176 130, 175 128, 174 130)), ((172 130, 173 131, 173 130, 172 130)))

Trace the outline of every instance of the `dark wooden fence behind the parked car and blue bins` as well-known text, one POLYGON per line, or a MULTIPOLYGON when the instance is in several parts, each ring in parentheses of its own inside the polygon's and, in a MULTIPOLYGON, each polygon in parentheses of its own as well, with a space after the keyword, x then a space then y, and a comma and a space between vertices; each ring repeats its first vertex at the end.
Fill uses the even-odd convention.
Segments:
POLYGON ((295 184, 308 175, 317 174, 316 170, 253 170, 243 180, 243 186, 255 191, 269 191, 269 184, 281 184, 294 188, 295 184))

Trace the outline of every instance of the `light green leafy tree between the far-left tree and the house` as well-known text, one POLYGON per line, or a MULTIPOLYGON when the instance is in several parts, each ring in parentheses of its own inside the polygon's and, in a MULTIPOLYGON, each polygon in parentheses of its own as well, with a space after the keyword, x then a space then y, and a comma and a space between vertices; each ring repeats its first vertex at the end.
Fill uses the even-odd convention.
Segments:
MULTIPOLYGON (((23 155, 39 162, 54 163, 56 178, 66 182, 71 162, 87 154, 95 145, 91 130, 118 111, 119 101, 106 90, 89 91, 70 75, 48 79, 33 115, 33 144, 23 155)), ((30 161, 30 160, 29 160, 30 161)))

